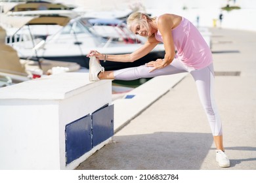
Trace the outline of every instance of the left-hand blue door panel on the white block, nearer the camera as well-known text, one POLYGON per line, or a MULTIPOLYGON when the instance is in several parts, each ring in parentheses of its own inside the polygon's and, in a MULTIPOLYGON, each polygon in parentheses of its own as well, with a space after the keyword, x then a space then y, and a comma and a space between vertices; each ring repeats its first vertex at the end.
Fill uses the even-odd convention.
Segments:
POLYGON ((66 125, 66 164, 91 150, 91 127, 90 115, 66 125))

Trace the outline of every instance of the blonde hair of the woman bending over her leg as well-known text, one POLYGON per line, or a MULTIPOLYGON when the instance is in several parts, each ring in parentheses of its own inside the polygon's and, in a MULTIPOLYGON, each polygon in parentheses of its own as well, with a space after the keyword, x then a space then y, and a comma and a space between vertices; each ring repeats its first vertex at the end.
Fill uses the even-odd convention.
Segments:
POLYGON ((138 24, 144 25, 148 31, 149 30, 148 21, 152 22, 153 20, 156 20, 156 17, 151 18, 150 16, 142 12, 133 12, 127 18, 127 27, 131 30, 131 25, 138 23, 138 24), (146 20, 142 18, 143 15, 146 16, 146 20))

